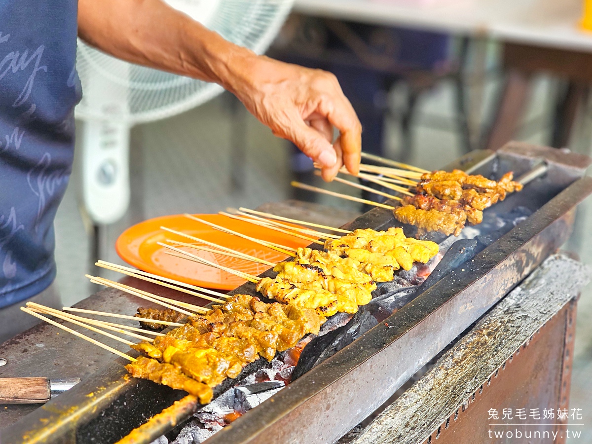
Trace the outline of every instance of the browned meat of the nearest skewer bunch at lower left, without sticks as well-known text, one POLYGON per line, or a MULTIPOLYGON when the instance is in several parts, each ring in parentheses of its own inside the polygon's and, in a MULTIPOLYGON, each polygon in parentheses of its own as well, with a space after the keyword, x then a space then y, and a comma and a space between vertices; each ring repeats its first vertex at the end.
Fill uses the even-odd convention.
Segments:
POLYGON ((276 351, 291 348, 305 334, 317 334, 325 320, 314 310, 235 295, 153 344, 134 345, 149 357, 126 368, 134 377, 186 390, 208 403, 211 388, 224 378, 236 378, 258 355, 271 361, 276 351))

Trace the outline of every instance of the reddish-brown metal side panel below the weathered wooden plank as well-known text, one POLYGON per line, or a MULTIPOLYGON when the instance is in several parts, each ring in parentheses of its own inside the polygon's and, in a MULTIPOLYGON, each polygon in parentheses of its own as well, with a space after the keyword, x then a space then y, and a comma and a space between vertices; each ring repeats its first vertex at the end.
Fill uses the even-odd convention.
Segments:
MULTIPOLYGON (((467 398, 464 404, 448 420, 433 431, 423 444, 472 444, 488 442, 528 442, 546 444, 565 443, 567 422, 542 420, 543 409, 560 407, 561 370, 565 352, 565 327, 568 317, 573 316, 575 304, 568 304, 559 311, 532 340, 516 350, 510 359, 494 375, 467 398), (501 420, 504 409, 511 408, 512 420, 501 420), (519 408, 525 409, 527 420, 516 417, 519 408), (531 409, 538 409, 540 419, 530 417, 531 409), (498 420, 489 419, 490 409, 498 412, 498 420), (536 424, 529 426, 490 426, 490 423, 536 424), (556 425, 549 425, 556 423, 556 425), (448 424, 448 427, 446 427, 448 424), (490 435, 491 430, 491 435, 490 435), (520 436, 516 438, 516 430, 520 436), (495 432, 503 432, 496 437, 495 432), (513 439, 508 439, 507 432, 513 439), (538 435, 535 435, 535 432, 538 435), (529 437, 525 436, 529 433, 529 437), (436 438, 437 437, 437 438, 436 438), (555 437, 555 439, 554 439, 555 437), (436 440, 437 439, 437 440, 436 440)), ((573 427, 570 427, 573 428, 573 427)), ((386 441, 390 442, 390 441, 386 441)))

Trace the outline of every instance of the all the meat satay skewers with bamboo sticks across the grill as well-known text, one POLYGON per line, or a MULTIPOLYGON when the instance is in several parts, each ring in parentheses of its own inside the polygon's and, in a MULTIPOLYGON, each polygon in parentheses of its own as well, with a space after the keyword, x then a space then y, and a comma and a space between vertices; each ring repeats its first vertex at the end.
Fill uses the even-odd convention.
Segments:
MULTIPOLYGON (((496 182, 458 170, 452 173, 429 173, 403 164, 394 166, 397 168, 362 165, 359 176, 385 189, 396 191, 399 195, 377 191, 342 178, 337 180, 399 201, 399 207, 364 201, 304 184, 294 185, 388 208, 398 220, 413 224, 420 231, 439 231, 445 234, 458 234, 467 221, 472 224, 480 223, 484 208, 503 200, 507 193, 522 188, 522 185, 513 182, 511 173, 496 182)), ((135 317, 66 307, 64 311, 59 311, 38 304, 27 304, 28 307, 22 307, 22 310, 123 356, 131 361, 126 368, 134 377, 185 390, 200 403, 208 403, 213 397, 213 388, 224 379, 236 378, 250 363, 258 359, 271 361, 276 353, 297 346, 305 336, 318 334, 327 317, 336 313, 356 313, 359 306, 371 301, 377 282, 391 281, 397 270, 409 270, 415 263, 425 264, 439 253, 436 243, 407 237, 403 229, 398 227, 386 231, 349 231, 246 208, 234 210, 233 214, 222 214, 308 240, 313 246, 316 244, 316 247, 292 249, 186 214, 186 217, 197 223, 243 237, 291 256, 293 260, 272 263, 161 227, 175 237, 159 243, 168 250, 168 254, 213 266, 253 282, 262 298, 246 294, 229 296, 99 261, 96 265, 102 268, 210 300, 214 305, 204 308, 181 303, 98 276, 88 276, 91 282, 120 289, 164 308, 139 308, 135 317), (184 240, 181 241, 180 238, 184 240), (204 259, 198 255, 200 251, 260 263, 273 268, 276 275, 274 278, 252 276, 204 259), (133 318, 140 321, 144 328, 77 316, 72 311, 94 316, 133 318), (134 358, 112 349, 68 329, 43 316, 44 314, 119 340, 139 351, 141 355, 134 358), (156 331, 163 327, 174 328, 166 333, 156 331), (140 339, 140 342, 133 343, 104 330, 123 333, 140 339)))

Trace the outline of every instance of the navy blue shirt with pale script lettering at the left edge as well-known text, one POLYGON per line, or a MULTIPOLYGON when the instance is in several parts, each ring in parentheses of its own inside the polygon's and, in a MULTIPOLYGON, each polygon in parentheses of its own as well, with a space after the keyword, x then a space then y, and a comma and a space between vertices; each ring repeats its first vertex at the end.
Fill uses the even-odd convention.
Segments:
POLYGON ((76 0, 0 0, 0 308, 56 275, 53 219, 72 170, 76 0))

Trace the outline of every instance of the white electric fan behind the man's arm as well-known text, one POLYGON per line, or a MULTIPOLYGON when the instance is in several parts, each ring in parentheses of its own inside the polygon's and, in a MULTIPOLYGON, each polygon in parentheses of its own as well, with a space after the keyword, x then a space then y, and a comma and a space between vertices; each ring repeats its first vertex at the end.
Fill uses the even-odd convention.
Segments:
MULTIPOLYGON (((166 0, 173 8, 256 53, 265 52, 293 0, 166 0)), ((96 224, 121 218, 130 201, 129 135, 135 124, 170 117, 223 89, 123 62, 78 41, 76 68, 83 98, 82 197, 96 224)))

